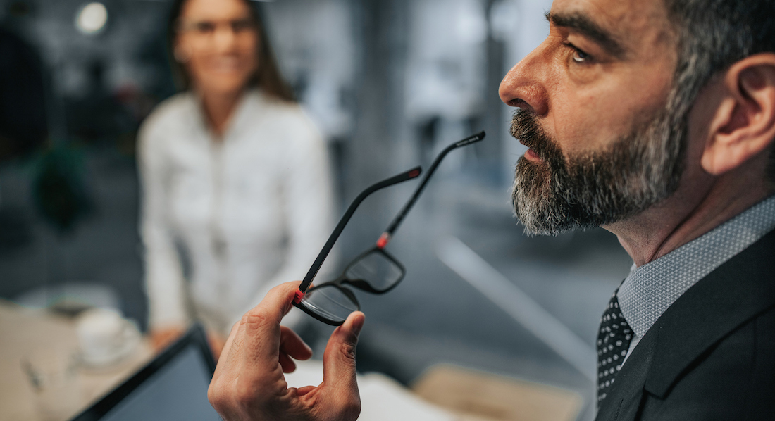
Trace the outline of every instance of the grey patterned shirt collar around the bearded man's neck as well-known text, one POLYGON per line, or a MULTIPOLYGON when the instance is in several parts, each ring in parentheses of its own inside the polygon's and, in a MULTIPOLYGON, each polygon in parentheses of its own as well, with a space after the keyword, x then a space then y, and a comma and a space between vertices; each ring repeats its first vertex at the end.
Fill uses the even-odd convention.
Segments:
POLYGON ((775 228, 775 196, 673 252, 632 269, 618 290, 619 306, 642 337, 687 289, 775 228))

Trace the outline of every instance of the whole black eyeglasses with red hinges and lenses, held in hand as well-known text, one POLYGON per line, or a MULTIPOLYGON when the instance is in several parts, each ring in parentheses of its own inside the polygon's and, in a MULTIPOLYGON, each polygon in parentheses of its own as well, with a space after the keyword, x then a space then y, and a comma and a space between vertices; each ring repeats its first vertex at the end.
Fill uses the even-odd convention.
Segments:
POLYGON ((384 294, 391 289, 394 289, 395 286, 398 285, 398 282, 401 282, 401 279, 404 279, 406 269, 396 258, 387 253, 384 248, 393 238, 393 234, 395 230, 398 229, 398 225, 404 221, 406 214, 408 214, 408 211, 414 206, 420 193, 422 193, 422 190, 425 188, 425 184, 428 183, 428 180, 436 171, 436 167, 439 166, 439 163, 441 163, 441 160, 444 159, 446 154, 453 149, 460 148, 460 146, 470 145, 471 143, 479 142, 482 139, 484 139, 484 132, 477 133, 476 135, 455 142, 452 145, 447 146, 442 152, 439 152, 439 155, 436 156, 436 159, 431 163, 428 173, 425 174, 425 178, 422 179, 415 190, 415 193, 412 194, 412 197, 410 197, 404 207, 401 208, 398 215, 391 221, 391 224, 388 225, 387 229, 380 235, 380 238, 377 240, 377 245, 375 245, 374 248, 363 252, 356 257, 353 262, 350 262, 342 275, 338 278, 322 283, 319 286, 309 288, 312 284, 312 280, 315 279, 315 275, 317 275, 320 266, 325 261, 326 256, 331 252, 331 248, 333 248, 336 239, 339 238, 339 234, 342 234, 345 225, 350 221, 350 217, 353 216, 353 213, 358 205, 360 205, 360 202, 377 190, 419 176, 421 169, 420 167, 410 169, 406 173, 401 173, 398 174, 398 176, 382 180, 381 182, 368 187, 366 190, 363 190, 363 192, 353 200, 350 207, 347 208, 342 219, 339 220, 339 224, 334 228, 329 240, 326 241, 323 249, 320 251, 318 258, 312 263, 312 267, 309 268, 304 281, 298 286, 293 305, 323 323, 339 326, 344 323, 344 320, 346 320, 350 313, 360 310, 360 303, 358 303, 355 293, 353 293, 352 289, 347 288, 347 286, 363 289, 363 291, 373 294, 384 294))

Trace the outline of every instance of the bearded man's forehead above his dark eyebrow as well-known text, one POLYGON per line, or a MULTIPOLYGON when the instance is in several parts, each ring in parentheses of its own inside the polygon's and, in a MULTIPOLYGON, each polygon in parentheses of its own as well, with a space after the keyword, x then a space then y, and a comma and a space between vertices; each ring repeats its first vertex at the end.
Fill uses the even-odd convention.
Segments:
POLYGON ((554 0, 549 13, 584 17, 630 46, 669 26, 663 0, 554 0))

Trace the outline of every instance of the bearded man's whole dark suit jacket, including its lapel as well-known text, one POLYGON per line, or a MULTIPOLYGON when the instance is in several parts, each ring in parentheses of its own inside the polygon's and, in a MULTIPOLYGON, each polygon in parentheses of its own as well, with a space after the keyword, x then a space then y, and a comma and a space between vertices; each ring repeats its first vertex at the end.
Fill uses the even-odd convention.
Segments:
POLYGON ((597 419, 775 420, 775 231, 656 320, 597 419))

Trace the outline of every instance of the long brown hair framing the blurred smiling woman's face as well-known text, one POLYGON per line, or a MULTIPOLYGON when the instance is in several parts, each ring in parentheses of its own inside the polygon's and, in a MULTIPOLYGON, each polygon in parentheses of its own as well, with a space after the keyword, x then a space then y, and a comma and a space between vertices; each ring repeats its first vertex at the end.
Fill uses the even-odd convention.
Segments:
MULTIPOLYGON (((191 87, 191 77, 188 76, 185 67, 175 60, 174 50, 177 39, 177 20, 180 19, 186 2, 188 0, 175 0, 170 10, 170 19, 167 21, 167 56, 171 63, 173 76, 182 90, 187 90, 191 87)), ((269 43, 269 36, 267 36, 267 31, 263 26, 258 9, 248 0, 243 0, 243 2, 250 10, 250 18, 256 23, 259 36, 258 50, 256 52, 258 56, 258 70, 256 74, 253 74, 253 77, 250 77, 248 85, 260 87, 264 93, 274 98, 283 101, 296 101, 291 87, 285 82, 282 74, 280 74, 279 67, 277 67, 277 59, 269 43)))

